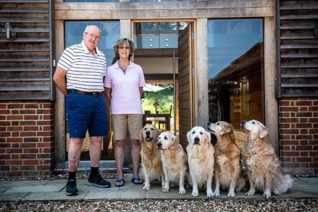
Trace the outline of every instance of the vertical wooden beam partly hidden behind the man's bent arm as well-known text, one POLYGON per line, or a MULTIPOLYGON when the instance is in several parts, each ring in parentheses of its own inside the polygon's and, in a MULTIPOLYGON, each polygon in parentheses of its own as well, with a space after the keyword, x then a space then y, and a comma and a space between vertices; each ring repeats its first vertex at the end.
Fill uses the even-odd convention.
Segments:
MULTIPOLYGON (((55 21, 56 63, 64 51, 64 21, 55 21)), ((66 160, 66 132, 65 132, 65 96, 56 87, 56 101, 54 105, 54 157, 55 166, 66 160)))

